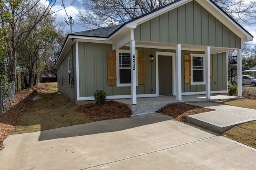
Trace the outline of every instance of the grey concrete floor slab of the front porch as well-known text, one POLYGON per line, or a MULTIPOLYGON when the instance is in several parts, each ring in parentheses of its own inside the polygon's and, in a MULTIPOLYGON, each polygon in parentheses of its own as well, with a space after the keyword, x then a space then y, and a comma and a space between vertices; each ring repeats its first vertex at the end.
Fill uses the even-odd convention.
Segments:
POLYGON ((206 99, 206 95, 184 95, 182 96, 182 101, 177 101, 176 96, 137 98, 137 105, 132 105, 131 99, 115 99, 114 101, 129 107, 132 111, 132 115, 140 115, 156 112, 162 107, 172 103, 212 102, 220 100, 235 100, 239 98, 241 97, 228 96, 226 94, 212 94, 210 99, 206 99))

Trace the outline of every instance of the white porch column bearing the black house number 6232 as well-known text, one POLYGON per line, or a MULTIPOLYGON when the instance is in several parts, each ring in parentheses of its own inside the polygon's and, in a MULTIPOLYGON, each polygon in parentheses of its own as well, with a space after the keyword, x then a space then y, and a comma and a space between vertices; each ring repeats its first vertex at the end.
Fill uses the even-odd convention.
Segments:
POLYGON ((135 51, 135 41, 133 39, 133 30, 132 30, 132 41, 130 41, 131 47, 131 94, 132 94, 132 105, 137 104, 137 92, 136 92, 136 51, 135 51))

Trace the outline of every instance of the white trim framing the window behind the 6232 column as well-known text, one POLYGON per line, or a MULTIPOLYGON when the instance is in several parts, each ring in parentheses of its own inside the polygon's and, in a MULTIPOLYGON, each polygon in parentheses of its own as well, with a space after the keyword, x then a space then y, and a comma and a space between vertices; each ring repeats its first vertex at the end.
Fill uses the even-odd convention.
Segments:
MULTIPOLYGON (((132 83, 120 83, 120 67, 119 67, 119 53, 131 53, 127 49, 116 50, 116 87, 131 87, 132 83)), ((138 86, 138 51, 136 50, 136 86, 138 86)))

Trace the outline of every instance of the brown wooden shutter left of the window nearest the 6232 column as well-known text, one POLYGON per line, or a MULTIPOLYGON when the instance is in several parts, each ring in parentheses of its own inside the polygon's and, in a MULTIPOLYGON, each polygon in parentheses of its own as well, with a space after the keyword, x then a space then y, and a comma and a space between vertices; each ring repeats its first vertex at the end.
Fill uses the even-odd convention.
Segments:
POLYGON ((108 85, 116 85, 116 51, 108 51, 108 85))

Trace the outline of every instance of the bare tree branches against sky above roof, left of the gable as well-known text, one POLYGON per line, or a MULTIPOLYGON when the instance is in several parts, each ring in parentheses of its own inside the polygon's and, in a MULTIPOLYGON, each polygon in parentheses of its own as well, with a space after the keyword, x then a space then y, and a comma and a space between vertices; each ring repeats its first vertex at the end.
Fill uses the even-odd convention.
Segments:
POLYGON ((123 24, 175 0, 87 0, 77 15, 85 28, 123 24))

